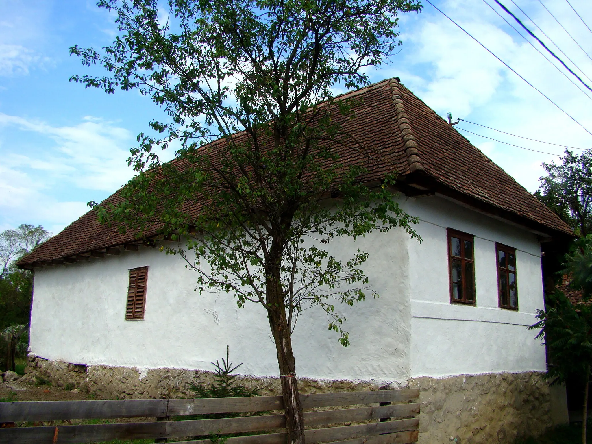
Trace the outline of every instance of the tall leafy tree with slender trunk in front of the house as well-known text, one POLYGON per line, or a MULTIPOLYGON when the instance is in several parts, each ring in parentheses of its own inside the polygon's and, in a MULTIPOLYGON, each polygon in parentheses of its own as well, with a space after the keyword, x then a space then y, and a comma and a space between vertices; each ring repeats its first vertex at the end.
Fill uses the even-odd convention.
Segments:
MULTIPOLYGON (((120 36, 102 52, 74 46, 107 76, 72 76, 111 94, 137 89, 170 121, 152 121, 131 150, 138 172, 117 204, 94 205, 102 223, 141 237, 160 227, 162 250, 185 258, 200 291, 230 292, 266 310, 276 345, 288 443, 304 443, 291 334, 305 308, 321 307, 349 344, 336 304, 365 299, 368 253, 326 248, 337 237, 416 221, 398 206, 394 168, 346 134, 355 99, 332 88, 368 85, 365 69, 400 45, 397 14, 417 0, 102 0, 120 36), (157 148, 180 148, 162 163, 157 148), (340 151, 353 156, 343 159, 340 151), (350 157, 351 159, 352 157, 350 157), (390 169, 379 181, 368 165, 390 169), (372 185, 372 186, 368 186, 372 185), (195 209, 198 208, 198 211, 195 209)), ((374 292, 372 292, 374 294, 374 292)), ((374 294, 377 296, 376 294, 374 294)))

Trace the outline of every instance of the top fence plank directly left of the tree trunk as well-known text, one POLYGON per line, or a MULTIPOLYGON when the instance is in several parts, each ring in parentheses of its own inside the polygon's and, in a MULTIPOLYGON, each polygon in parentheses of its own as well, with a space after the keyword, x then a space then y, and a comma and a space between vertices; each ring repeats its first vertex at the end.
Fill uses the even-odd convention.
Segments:
POLYGON ((169 416, 282 410, 283 408, 284 401, 281 396, 169 400, 169 416))

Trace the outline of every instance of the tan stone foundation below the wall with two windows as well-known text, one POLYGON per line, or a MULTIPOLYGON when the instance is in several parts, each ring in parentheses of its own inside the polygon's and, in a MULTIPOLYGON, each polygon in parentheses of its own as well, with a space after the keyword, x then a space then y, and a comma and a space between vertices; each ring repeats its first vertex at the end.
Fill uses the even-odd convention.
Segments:
POLYGON ((551 422, 549 385, 539 372, 415 378, 422 444, 512 443, 551 422))

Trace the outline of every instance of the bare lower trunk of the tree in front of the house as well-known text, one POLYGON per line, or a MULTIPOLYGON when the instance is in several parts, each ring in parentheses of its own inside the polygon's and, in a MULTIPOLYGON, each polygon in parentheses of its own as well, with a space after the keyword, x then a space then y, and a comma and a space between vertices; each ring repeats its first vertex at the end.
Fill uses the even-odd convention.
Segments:
POLYGON ((275 349, 278 353, 279 379, 282 385, 286 414, 287 443, 304 444, 304 416, 298 394, 292 339, 288 329, 283 297, 281 292, 278 294, 276 290, 269 288, 268 281, 269 326, 274 335, 275 349))

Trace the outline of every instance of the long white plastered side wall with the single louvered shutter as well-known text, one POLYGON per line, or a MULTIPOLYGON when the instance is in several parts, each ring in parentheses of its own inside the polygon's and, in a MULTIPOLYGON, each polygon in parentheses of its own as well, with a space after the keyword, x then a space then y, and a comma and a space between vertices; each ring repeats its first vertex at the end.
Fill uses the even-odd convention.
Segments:
MULTIPOLYGON (((364 269, 381 297, 339 307, 352 345, 343 348, 320 310, 307 311, 294 336, 303 377, 404 381, 410 375, 411 306, 408 235, 401 230, 332 245, 339 257, 359 247, 371 253, 364 269)), ((70 363, 211 369, 230 346, 247 375, 278 375, 275 345, 259 305, 238 308, 224 292, 195 292, 197 274, 178 256, 157 249, 122 252, 91 262, 37 271, 31 350, 70 363), (128 269, 149 266, 144 320, 124 320, 128 269), (217 313, 218 323, 213 314, 217 313)))

